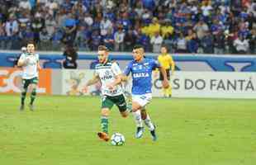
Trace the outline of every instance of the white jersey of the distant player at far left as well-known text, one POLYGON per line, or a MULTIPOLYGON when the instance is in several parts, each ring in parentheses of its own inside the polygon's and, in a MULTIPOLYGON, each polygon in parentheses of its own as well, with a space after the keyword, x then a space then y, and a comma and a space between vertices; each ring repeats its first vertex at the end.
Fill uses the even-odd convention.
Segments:
POLYGON ((19 60, 27 61, 25 65, 22 66, 23 79, 31 79, 38 77, 38 70, 37 70, 37 63, 39 62, 39 55, 38 54, 21 54, 19 60))

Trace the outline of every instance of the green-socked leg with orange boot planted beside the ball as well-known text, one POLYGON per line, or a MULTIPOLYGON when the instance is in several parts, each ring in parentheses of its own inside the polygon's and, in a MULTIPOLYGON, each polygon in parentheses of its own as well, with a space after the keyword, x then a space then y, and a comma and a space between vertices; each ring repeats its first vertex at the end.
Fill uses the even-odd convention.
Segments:
POLYGON ((102 132, 98 132, 97 135, 100 139, 105 141, 109 140, 108 136, 108 116, 110 113, 111 107, 114 103, 111 101, 110 97, 102 96, 102 114, 101 114, 101 126, 102 132))

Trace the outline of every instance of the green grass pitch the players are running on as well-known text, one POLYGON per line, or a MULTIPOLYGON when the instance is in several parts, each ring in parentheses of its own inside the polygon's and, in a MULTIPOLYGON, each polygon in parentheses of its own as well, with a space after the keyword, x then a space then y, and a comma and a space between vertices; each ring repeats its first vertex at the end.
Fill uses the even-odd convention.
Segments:
MULTIPOLYGON (((30 100, 26 98, 26 102, 30 100)), ((110 133, 121 147, 97 138, 99 97, 36 98, 36 111, 18 111, 20 97, 0 95, 2 165, 254 165, 256 101, 160 99, 148 106, 159 140, 135 139, 132 115, 111 111, 110 133)))

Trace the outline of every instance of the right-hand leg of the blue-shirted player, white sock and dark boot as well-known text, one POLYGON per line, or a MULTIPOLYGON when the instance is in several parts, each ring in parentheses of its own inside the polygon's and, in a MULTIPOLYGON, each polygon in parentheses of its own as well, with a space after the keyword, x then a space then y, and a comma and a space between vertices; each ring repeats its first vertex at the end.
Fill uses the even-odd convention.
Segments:
POLYGON ((149 113, 145 110, 145 107, 141 109, 141 118, 144 120, 145 125, 149 128, 150 134, 154 141, 157 140, 157 135, 155 133, 155 125, 153 124, 152 120, 149 117, 149 113))

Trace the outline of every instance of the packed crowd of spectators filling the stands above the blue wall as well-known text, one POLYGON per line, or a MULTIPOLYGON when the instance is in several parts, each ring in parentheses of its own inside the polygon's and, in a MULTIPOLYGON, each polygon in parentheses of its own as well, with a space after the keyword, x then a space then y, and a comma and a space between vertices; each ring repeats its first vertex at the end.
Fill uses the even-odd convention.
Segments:
POLYGON ((0 0, 0 50, 256 54, 256 0, 0 0))

